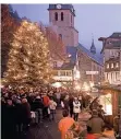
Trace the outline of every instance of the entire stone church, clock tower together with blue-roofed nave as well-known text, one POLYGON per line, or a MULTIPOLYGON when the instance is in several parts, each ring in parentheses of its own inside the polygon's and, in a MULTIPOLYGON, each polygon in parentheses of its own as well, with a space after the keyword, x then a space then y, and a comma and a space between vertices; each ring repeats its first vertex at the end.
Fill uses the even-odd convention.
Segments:
POLYGON ((66 69, 63 70, 63 67, 68 65, 68 71, 71 72, 69 79, 77 89, 90 88, 90 85, 100 82, 102 80, 102 62, 97 57, 94 39, 90 50, 78 43, 78 32, 74 26, 75 10, 73 5, 49 4, 48 11, 49 23, 57 26, 58 34, 61 36, 69 56, 68 62, 65 61, 66 63, 58 69, 58 77, 60 78, 61 72, 64 72, 63 79, 66 79, 66 69), (73 67, 71 67, 72 65, 73 67))

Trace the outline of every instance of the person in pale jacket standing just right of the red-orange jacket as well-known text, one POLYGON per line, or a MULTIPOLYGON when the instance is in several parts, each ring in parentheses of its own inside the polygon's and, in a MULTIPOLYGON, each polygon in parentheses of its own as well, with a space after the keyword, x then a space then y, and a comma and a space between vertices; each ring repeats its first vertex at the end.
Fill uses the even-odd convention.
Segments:
POLYGON ((55 120, 55 111, 56 111, 56 107, 57 107, 57 103, 51 97, 50 102, 49 102, 49 109, 50 109, 50 119, 52 119, 52 120, 55 120))

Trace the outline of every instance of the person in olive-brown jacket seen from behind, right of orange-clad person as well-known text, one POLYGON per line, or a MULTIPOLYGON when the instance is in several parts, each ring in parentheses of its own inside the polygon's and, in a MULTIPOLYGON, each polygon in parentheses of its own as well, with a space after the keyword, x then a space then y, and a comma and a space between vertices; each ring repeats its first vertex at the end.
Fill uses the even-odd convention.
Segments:
POLYGON ((88 120, 87 126, 92 128, 92 134, 101 134, 105 126, 104 120, 98 116, 98 112, 93 109, 93 116, 88 120))

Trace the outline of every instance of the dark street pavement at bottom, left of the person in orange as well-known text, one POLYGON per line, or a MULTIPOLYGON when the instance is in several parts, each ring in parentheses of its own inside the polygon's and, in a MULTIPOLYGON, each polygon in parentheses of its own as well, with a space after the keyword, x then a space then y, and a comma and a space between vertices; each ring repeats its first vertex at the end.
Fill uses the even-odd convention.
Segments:
POLYGON ((37 127, 32 127, 23 139, 60 139, 58 123, 61 119, 61 111, 58 109, 55 121, 44 121, 37 127))

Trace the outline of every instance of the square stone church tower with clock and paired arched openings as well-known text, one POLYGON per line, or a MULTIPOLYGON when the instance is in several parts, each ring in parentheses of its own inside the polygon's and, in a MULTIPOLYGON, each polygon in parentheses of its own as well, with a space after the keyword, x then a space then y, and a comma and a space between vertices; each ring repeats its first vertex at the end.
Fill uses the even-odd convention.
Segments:
POLYGON ((49 23, 58 26, 58 34, 65 46, 78 45, 78 32, 74 27, 75 10, 72 4, 49 4, 49 23))

